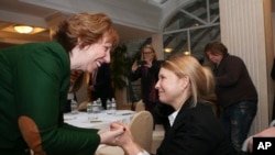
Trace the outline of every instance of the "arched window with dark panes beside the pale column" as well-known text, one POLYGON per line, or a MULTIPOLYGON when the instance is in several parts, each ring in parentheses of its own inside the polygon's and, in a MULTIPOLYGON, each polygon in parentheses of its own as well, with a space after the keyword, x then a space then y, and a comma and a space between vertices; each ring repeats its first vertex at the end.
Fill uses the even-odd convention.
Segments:
POLYGON ((204 47, 220 40, 218 0, 196 0, 179 9, 164 29, 165 58, 172 54, 190 54, 204 58, 204 47))

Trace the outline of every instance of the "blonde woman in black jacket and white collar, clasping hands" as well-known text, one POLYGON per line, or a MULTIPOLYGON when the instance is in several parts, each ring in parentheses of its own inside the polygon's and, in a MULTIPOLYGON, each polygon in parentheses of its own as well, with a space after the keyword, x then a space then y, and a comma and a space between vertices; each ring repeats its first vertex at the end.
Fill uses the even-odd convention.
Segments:
MULTIPOLYGON (((156 155, 230 155, 231 144, 209 101, 215 97, 209 68, 193 56, 173 55, 162 64, 155 88, 160 101, 174 109, 166 118, 169 129, 156 155)), ((148 155, 125 124, 111 124, 111 129, 121 126, 127 130, 116 144, 128 155, 148 155)))

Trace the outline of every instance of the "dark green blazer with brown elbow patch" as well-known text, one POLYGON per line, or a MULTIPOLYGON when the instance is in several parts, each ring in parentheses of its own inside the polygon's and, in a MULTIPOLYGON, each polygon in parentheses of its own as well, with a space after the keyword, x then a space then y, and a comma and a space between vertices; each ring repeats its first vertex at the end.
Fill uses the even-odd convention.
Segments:
POLYGON ((56 42, 0 49, 0 154, 91 155, 97 130, 64 123, 70 62, 56 42), (29 145, 29 146, 28 146, 29 145))

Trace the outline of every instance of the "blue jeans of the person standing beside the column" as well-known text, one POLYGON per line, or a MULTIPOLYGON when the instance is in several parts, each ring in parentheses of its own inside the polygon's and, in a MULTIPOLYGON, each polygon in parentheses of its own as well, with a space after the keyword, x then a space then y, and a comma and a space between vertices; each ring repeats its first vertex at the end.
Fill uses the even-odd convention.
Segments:
POLYGON ((235 155, 241 154, 242 144, 248 137, 256 111, 257 101, 241 101, 224 108, 221 112, 220 121, 228 133, 235 155))

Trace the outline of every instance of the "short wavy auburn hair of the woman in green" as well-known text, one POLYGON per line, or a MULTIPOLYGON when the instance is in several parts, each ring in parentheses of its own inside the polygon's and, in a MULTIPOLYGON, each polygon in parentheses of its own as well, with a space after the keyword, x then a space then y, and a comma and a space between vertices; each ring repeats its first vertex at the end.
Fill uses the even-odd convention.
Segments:
POLYGON ((118 33, 107 14, 82 12, 61 22, 54 40, 70 53, 78 44, 78 40, 80 40, 79 47, 84 48, 98 42, 103 35, 112 43, 112 48, 119 44, 118 33))

